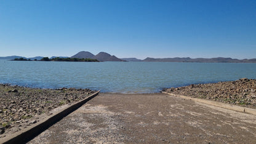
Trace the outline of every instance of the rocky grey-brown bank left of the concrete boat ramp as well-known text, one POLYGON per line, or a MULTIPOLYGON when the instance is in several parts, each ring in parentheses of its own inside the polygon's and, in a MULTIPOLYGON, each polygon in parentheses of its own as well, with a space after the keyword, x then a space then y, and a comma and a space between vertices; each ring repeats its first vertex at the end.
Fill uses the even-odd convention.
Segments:
POLYGON ((90 89, 32 89, 0 84, 0 138, 39 121, 50 110, 93 94, 90 89))

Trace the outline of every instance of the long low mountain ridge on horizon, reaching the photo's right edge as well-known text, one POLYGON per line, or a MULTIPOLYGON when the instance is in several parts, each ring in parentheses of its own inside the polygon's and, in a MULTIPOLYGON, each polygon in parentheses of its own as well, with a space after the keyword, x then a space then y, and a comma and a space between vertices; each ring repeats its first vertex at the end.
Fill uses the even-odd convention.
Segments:
POLYGON ((256 63, 256 58, 238 60, 236 58, 150 58, 147 57, 143 62, 198 62, 198 63, 256 63))

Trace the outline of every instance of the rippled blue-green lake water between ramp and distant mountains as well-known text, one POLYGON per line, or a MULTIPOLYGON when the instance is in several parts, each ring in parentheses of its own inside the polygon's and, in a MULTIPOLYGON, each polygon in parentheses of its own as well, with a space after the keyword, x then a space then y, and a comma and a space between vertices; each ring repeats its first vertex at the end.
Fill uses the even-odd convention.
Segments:
POLYGON ((255 63, 18 62, 0 60, 0 83, 150 93, 165 87, 256 78, 255 63))

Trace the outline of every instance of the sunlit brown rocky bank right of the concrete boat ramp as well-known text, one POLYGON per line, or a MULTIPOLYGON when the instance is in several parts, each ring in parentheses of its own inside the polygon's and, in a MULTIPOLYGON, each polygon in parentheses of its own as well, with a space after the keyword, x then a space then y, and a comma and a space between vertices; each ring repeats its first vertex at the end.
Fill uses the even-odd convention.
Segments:
POLYGON ((256 79, 242 78, 214 84, 191 84, 164 89, 163 92, 256 108, 256 79))

